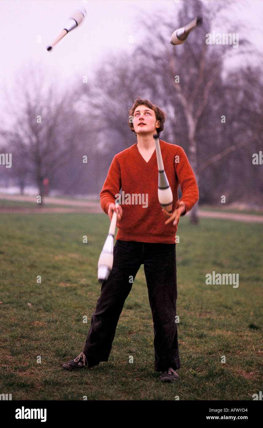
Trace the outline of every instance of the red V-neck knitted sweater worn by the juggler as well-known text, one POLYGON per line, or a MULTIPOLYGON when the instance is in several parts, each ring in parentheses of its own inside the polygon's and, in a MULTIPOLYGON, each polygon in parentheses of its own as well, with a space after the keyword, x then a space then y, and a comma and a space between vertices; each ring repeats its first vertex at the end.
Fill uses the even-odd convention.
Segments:
MULTIPOLYGON (((182 191, 180 200, 185 204, 184 214, 186 214, 199 198, 193 169, 180 146, 159 141, 164 171, 173 195, 172 211, 175 210, 178 201, 180 184, 182 191), (176 156, 179 158, 175 158, 176 156)), ((119 195, 123 216, 117 222, 116 239, 175 244, 177 226, 173 226, 173 222, 164 224, 168 218, 164 216, 158 200, 156 150, 148 162, 140 154, 137 143, 114 156, 99 195, 100 205, 106 214, 108 205, 118 202, 119 195)))

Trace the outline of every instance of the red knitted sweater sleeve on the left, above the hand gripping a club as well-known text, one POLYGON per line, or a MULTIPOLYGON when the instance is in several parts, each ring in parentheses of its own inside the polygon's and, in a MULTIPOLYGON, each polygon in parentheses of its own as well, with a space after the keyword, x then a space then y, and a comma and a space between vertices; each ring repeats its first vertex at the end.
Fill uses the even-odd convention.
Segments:
POLYGON ((117 160, 117 155, 115 155, 108 170, 108 175, 103 184, 102 191, 99 194, 101 208, 106 214, 108 214, 109 204, 115 204, 115 200, 117 199, 117 196, 115 195, 120 192, 120 188, 120 163, 117 160))

